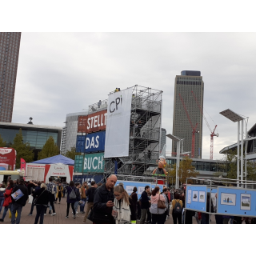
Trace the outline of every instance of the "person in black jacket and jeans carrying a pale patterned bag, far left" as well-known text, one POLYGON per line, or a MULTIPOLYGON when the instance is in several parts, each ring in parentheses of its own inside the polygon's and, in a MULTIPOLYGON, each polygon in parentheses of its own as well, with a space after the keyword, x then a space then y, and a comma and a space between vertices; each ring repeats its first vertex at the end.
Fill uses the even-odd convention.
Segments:
POLYGON ((11 210, 11 224, 15 224, 15 213, 18 212, 17 218, 16 218, 16 224, 19 224, 21 220, 22 215, 22 207, 26 205, 26 201, 29 198, 29 193, 27 190, 27 187, 24 185, 24 179, 20 178, 18 181, 18 186, 14 187, 14 190, 12 191, 12 194, 14 194, 15 191, 21 190, 23 195, 21 198, 19 198, 17 201, 12 198, 13 206, 11 210))

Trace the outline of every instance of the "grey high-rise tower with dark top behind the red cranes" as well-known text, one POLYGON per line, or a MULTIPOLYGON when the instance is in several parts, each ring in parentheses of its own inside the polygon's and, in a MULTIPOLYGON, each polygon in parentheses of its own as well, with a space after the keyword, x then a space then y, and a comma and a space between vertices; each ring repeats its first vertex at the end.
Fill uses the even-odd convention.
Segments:
MULTIPOLYGON (((176 75, 173 134, 179 138, 184 138, 184 152, 192 152, 192 130, 198 124, 195 129, 197 133, 194 134, 194 158, 202 158, 202 112, 199 106, 203 110, 203 92, 204 82, 200 71, 184 70, 181 75, 176 75), (187 115, 190 116, 193 128, 187 115)), ((172 143, 172 152, 173 154, 177 152, 176 142, 172 143)))

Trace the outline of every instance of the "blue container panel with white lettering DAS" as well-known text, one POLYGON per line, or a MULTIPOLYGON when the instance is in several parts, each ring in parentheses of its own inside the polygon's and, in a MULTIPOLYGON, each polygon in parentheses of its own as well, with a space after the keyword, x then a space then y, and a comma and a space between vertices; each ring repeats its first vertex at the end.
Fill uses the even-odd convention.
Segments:
POLYGON ((86 135, 86 153, 101 152, 105 150, 106 131, 86 135))

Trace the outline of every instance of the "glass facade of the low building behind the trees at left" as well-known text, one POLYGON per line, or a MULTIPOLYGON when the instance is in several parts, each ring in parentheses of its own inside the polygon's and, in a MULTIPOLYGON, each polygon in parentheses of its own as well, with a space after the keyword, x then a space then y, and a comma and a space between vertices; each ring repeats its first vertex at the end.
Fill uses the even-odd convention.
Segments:
MULTIPOLYGON (((0 128, 0 134, 6 143, 14 143, 14 138, 18 134, 18 129, 0 128)), ((29 142, 31 147, 42 150, 42 146, 50 136, 54 138, 54 142, 58 145, 58 131, 42 131, 42 130, 22 130, 23 142, 29 142)), ((58 145, 59 146, 59 145, 58 145)))

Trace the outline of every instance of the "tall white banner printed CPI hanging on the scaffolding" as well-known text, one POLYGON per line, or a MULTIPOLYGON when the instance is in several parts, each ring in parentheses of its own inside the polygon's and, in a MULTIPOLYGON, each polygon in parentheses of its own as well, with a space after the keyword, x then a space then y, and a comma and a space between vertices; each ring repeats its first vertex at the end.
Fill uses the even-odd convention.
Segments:
POLYGON ((104 158, 129 155, 132 93, 133 88, 129 88, 109 95, 104 158))

